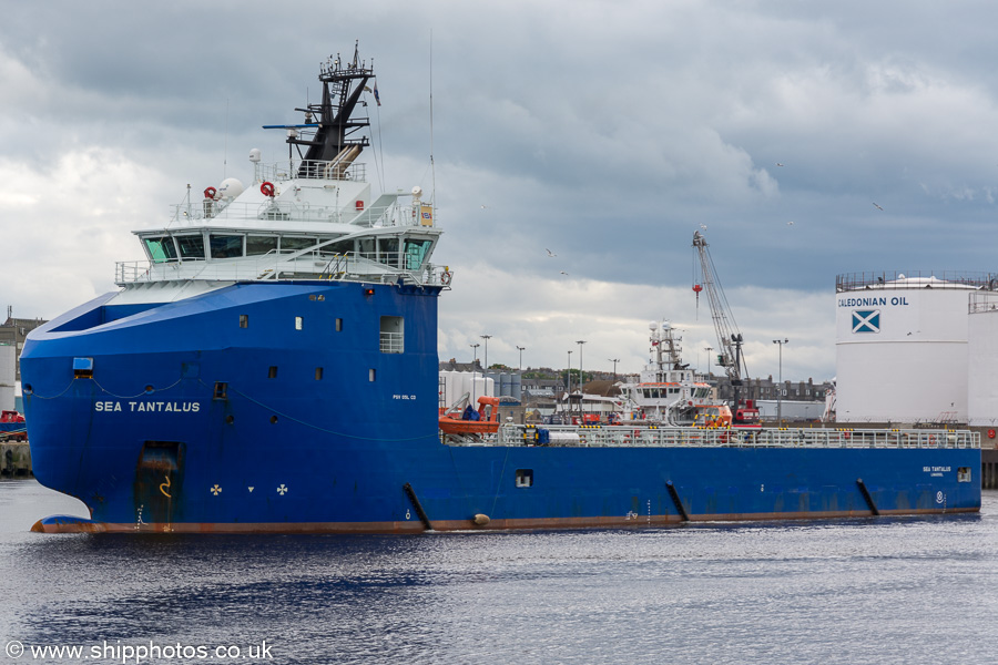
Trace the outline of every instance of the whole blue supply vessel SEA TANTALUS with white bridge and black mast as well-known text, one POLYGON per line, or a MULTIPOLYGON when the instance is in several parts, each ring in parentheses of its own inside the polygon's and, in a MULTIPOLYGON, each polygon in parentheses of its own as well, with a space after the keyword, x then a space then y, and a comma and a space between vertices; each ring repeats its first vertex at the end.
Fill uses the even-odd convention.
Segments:
MULTIPOLYGON (((121 287, 21 357, 35 477, 91 519, 34 529, 419 532, 970 512, 968 431, 438 429, 437 298, 451 273, 422 192, 371 197, 357 57, 327 61, 288 160, 165 226, 121 287)), ((376 91, 376 86, 374 91, 376 91)), ((373 92, 373 91, 371 91, 373 92)))

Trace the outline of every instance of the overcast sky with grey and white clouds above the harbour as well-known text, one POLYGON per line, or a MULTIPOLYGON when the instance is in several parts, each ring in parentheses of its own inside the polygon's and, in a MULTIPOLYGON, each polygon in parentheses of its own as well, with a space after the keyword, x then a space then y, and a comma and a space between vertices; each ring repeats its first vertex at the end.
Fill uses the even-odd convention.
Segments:
POLYGON ((489 362, 578 367, 582 339, 585 369, 637 371, 664 317, 705 368, 702 227, 753 377, 776 338, 784 378, 834 376, 836 275, 998 272, 991 2, 7 2, 0 304, 115 288, 130 231, 286 155, 261 125, 358 39, 361 161, 446 231, 441 359, 491 335, 489 362))

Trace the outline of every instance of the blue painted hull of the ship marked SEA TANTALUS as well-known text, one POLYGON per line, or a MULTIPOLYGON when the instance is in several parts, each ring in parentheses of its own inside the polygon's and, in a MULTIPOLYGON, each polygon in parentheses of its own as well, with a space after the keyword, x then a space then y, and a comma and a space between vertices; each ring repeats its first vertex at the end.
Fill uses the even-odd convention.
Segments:
POLYGON ((247 283, 157 306, 103 296, 39 328, 21 358, 34 473, 92 513, 39 529, 406 532, 980 508, 977 449, 445 446, 437 295, 247 283), (381 317, 404 320, 403 352, 380 346, 381 317), (92 374, 74 376, 74 359, 92 374))

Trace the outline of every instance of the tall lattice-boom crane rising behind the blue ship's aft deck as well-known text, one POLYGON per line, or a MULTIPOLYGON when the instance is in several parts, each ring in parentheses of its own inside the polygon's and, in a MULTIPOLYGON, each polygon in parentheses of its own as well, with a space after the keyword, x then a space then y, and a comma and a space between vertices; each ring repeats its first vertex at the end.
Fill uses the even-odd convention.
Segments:
POLYGON ((735 424, 757 424, 758 409, 751 401, 742 402, 741 388, 742 378, 748 376, 748 367, 745 365, 745 358, 742 356, 742 334, 735 323, 731 306, 727 304, 727 297, 721 287, 721 280, 717 278, 717 270, 714 267, 714 260, 711 258, 706 238, 699 231, 693 232, 693 247, 700 256, 700 280, 694 283, 693 291, 700 298, 700 291, 706 293, 707 303, 711 308, 711 318, 714 321, 714 331, 717 335, 720 345, 720 354, 717 354, 717 365, 724 368, 725 375, 731 380, 734 389, 731 410, 734 413, 735 424))

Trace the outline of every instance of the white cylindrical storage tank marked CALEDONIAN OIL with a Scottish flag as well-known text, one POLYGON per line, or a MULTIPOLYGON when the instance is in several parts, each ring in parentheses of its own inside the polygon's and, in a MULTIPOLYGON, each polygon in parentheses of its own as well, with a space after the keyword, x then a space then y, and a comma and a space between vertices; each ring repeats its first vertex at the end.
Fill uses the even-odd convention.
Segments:
POLYGON ((836 278, 836 421, 966 423, 968 304, 987 275, 836 278))

